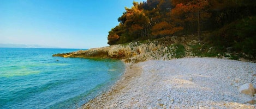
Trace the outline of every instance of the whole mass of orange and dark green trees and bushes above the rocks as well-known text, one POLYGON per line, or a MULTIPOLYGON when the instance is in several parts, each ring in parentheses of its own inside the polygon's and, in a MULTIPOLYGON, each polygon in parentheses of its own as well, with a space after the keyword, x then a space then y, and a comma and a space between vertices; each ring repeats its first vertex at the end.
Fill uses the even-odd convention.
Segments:
POLYGON ((214 46, 216 52, 245 53, 255 58, 255 10, 253 0, 133 2, 133 7, 118 18, 120 24, 109 31, 108 44, 194 34, 208 48, 214 46))

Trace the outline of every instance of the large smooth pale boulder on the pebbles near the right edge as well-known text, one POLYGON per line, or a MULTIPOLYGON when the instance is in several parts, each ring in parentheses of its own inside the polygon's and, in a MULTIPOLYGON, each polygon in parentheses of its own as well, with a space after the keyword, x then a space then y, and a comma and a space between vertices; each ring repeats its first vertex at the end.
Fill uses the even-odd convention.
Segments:
POLYGON ((239 92, 251 96, 253 96, 253 94, 255 93, 253 85, 249 83, 240 86, 239 92))

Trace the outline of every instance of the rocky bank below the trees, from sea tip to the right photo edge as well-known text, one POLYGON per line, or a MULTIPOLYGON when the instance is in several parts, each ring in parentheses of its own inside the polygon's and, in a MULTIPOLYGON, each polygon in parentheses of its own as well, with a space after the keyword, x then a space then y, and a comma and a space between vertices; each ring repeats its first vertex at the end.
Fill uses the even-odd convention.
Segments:
MULTIPOLYGON (((182 57, 218 57, 236 60, 248 59, 237 53, 221 52, 198 41, 193 35, 169 36, 156 40, 135 41, 102 48, 79 50, 72 53, 54 54, 62 57, 110 58, 125 62, 138 63, 146 60, 171 60, 182 57)), ((255 62, 254 59, 249 59, 255 62)))

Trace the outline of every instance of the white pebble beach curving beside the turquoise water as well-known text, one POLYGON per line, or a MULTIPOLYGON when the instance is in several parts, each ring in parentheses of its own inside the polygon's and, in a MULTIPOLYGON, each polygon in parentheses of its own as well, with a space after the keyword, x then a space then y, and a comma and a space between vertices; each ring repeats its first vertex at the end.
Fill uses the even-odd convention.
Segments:
POLYGON ((247 82, 255 88, 256 63, 194 57, 125 64, 120 80, 81 108, 256 107, 247 103, 255 97, 238 91, 247 82))

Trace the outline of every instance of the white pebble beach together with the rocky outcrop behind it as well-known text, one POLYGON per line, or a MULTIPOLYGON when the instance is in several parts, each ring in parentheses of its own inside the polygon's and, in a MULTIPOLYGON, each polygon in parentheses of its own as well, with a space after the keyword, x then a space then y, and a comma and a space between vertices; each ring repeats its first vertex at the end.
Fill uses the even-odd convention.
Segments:
POLYGON ((81 108, 255 108, 256 64, 197 57, 196 39, 172 36, 53 56, 126 63, 116 85, 81 108))

